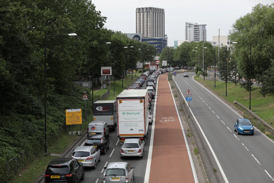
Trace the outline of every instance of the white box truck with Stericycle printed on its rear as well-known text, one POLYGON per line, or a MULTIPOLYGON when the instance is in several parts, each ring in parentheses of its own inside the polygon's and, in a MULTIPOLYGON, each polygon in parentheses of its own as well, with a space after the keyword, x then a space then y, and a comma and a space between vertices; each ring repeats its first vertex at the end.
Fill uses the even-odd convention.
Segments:
POLYGON ((117 135, 126 138, 148 138, 148 90, 123 90, 117 97, 117 135))

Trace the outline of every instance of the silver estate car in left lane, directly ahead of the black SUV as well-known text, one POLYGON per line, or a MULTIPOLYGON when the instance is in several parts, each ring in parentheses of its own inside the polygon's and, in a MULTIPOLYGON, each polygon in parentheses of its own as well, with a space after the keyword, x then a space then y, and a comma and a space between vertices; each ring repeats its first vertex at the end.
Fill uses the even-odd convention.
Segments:
POLYGON ((96 168, 96 163, 101 160, 100 151, 93 146, 78 146, 74 149, 71 158, 81 162, 84 167, 96 168))

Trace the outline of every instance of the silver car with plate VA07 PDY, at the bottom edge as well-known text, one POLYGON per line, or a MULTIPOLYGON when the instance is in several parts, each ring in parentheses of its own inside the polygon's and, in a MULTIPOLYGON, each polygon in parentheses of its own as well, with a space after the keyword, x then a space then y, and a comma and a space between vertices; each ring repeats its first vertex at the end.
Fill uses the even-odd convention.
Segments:
POLYGON ((132 183, 134 168, 127 162, 109 163, 103 175, 103 183, 132 183))

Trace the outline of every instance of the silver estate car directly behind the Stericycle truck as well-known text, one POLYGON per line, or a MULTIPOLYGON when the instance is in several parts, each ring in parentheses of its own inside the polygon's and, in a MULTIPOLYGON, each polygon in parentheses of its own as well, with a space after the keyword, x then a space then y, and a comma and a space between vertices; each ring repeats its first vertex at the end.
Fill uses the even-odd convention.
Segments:
POLYGON ((139 138, 127 138, 121 146, 120 157, 137 156, 143 158, 144 143, 139 138))

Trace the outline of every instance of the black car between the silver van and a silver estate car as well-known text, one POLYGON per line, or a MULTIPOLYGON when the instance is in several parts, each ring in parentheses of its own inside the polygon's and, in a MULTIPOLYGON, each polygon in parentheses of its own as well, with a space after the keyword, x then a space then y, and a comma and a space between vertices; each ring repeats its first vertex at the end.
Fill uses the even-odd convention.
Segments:
POLYGON ((104 135, 91 135, 86 139, 85 146, 93 146, 102 154, 106 154, 106 149, 109 149, 109 138, 104 135))

